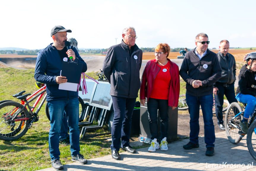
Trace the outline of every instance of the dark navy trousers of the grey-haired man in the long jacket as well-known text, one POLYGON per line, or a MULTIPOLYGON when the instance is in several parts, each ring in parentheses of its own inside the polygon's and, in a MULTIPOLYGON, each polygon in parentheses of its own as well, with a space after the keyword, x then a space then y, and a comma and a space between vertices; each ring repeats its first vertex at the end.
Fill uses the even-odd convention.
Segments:
POLYGON ((120 149, 129 145, 131 132, 131 118, 135 106, 136 98, 123 98, 112 96, 114 118, 111 128, 112 144, 111 150, 120 149))

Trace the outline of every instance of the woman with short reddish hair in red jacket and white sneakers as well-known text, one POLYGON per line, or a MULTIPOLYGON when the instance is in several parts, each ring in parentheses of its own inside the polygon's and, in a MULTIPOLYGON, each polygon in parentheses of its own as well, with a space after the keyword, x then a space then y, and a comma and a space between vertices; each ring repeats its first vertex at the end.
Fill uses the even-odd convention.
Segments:
POLYGON ((168 106, 175 109, 179 100, 179 67, 168 59, 170 46, 160 43, 155 48, 155 59, 147 62, 140 87, 140 101, 144 105, 147 98, 147 110, 151 133, 151 145, 148 151, 168 150, 168 106), (160 116, 160 140, 158 143, 157 110, 160 116))

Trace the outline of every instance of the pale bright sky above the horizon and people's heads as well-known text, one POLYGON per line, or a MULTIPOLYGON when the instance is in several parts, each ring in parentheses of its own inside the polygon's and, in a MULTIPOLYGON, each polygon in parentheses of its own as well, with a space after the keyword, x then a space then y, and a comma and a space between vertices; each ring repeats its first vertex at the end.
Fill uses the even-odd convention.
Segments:
POLYGON ((9 0, 1 1, 0 48, 42 49, 55 25, 71 29, 78 48, 109 48, 133 26, 139 47, 168 43, 195 47, 209 36, 209 48, 227 39, 230 47, 256 47, 255 0, 9 0))

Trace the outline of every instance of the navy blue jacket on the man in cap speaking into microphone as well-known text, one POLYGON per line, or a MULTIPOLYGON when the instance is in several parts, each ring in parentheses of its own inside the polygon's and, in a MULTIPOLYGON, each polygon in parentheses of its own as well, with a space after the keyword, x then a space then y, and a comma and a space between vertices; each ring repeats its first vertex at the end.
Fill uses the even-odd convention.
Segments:
MULTIPOLYGON (((56 83, 56 76, 60 76, 62 59, 58 53, 58 50, 52 46, 52 44, 53 43, 38 53, 34 78, 36 81, 46 84, 47 101, 66 100, 78 97, 78 92, 59 90, 59 84, 56 83)), ((74 62, 82 63, 82 72, 85 72, 87 70, 85 61, 80 57, 79 53, 73 46, 71 46, 71 49, 76 55, 74 62)))

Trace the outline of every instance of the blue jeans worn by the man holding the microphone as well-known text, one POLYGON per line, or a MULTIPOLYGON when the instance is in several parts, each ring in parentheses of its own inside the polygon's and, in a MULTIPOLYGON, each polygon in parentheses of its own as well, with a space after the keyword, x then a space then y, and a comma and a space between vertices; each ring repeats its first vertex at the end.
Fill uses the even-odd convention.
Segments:
POLYGON ((79 131, 79 101, 78 98, 69 100, 53 100, 48 101, 50 112, 50 131, 49 131, 49 152, 51 160, 60 158, 59 136, 64 111, 68 118, 69 134, 70 134, 70 150, 71 156, 79 154, 80 131, 79 131))

